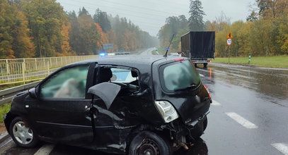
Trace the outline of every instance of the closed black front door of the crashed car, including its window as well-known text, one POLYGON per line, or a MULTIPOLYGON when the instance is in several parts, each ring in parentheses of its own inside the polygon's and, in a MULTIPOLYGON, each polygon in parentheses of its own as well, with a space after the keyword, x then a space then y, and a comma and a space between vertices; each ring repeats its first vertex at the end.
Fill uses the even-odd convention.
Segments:
MULTIPOLYGON (((60 70, 38 87, 38 99, 26 99, 26 108, 37 134, 48 141, 81 145, 93 141, 91 106, 87 88, 94 65, 60 70)), ((90 86, 89 86, 90 85, 90 86)))

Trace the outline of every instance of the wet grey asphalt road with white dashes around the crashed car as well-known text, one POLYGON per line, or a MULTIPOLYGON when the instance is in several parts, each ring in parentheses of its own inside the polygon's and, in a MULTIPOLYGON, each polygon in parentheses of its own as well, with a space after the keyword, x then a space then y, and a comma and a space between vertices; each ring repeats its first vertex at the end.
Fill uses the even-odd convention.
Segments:
MULTIPOLYGON (((208 68, 197 70, 214 102, 202 140, 177 154, 288 154, 287 69, 209 63, 208 68)), ((0 152, 35 154, 43 145, 21 149, 8 142, 1 146, 0 152)), ((53 145, 50 155, 60 154, 103 153, 53 145)))

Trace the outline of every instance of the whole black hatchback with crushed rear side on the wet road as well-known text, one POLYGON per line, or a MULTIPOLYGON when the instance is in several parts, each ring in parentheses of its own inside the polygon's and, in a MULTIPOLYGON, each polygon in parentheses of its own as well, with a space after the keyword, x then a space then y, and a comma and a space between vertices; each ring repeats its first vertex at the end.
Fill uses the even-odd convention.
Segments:
POLYGON ((207 127, 212 102, 189 58, 111 56, 60 68, 13 98, 13 141, 116 154, 173 154, 207 127))

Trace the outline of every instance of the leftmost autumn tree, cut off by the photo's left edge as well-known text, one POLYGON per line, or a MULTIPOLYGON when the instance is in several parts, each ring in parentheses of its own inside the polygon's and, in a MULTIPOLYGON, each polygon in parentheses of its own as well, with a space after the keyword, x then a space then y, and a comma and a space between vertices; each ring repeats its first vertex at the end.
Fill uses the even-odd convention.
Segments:
POLYGON ((0 1, 0 54, 1 58, 27 58, 34 56, 28 21, 16 4, 0 1))

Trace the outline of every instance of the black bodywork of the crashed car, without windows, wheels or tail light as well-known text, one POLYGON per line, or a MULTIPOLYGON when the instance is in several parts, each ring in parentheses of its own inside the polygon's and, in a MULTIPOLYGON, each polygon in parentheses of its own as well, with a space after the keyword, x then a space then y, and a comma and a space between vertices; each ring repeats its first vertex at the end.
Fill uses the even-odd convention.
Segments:
MULTIPOLYGON (((72 63, 42 80, 33 90, 35 97, 30 95, 33 91, 14 97, 11 111, 5 119, 6 128, 9 128, 13 117, 21 116, 35 130, 40 140, 110 153, 125 153, 134 135, 142 130, 173 131, 175 133, 169 137, 180 142, 180 137, 191 135, 194 128, 192 126, 188 130, 185 126, 189 126, 194 120, 201 120, 209 111, 210 98, 201 82, 193 89, 175 92, 166 92, 163 89, 159 68, 175 62, 175 58, 177 57, 117 56, 72 63), (47 91, 45 85, 54 77, 61 75, 63 70, 79 66, 88 66, 83 98, 46 99, 43 96, 47 91), (134 74, 137 73, 138 76, 133 77, 137 80, 134 83, 109 83, 109 77, 110 81, 106 81, 106 84, 115 87, 115 93, 107 94, 110 92, 106 90, 97 95, 102 90, 101 87, 105 87, 105 82, 100 80, 101 71, 105 68, 132 70, 134 74), (93 85, 98 92, 87 93, 93 85), (137 87, 131 90, 130 85, 137 87), (170 101, 180 118, 166 123, 155 104, 155 101, 160 100, 170 101), (171 127, 172 124, 178 127, 171 127)), ((188 61, 188 58, 181 61, 188 61)))

